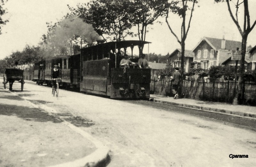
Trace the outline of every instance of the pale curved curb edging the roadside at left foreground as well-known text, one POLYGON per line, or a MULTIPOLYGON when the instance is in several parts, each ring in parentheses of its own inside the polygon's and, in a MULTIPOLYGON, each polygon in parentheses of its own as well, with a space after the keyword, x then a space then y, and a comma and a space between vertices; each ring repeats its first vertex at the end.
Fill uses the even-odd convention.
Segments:
MULTIPOLYGON (((7 90, 7 91, 9 91, 12 95, 19 96, 16 93, 11 92, 10 90, 7 90)), ((44 105, 37 106, 36 104, 34 104, 32 102, 29 102, 27 99, 25 99, 23 97, 20 97, 20 98, 24 99, 26 102, 30 103, 35 108, 43 109, 49 115, 54 115, 54 113, 56 113, 56 111, 52 108, 49 108, 49 107, 44 106, 44 105)), ((72 167, 96 167, 98 165, 100 166, 102 164, 108 163, 108 159, 109 159, 108 153, 109 153, 110 149, 107 146, 102 144, 99 140, 93 138, 92 135, 90 135, 89 133, 86 133, 82 129, 76 127, 75 125, 73 125, 73 124, 71 124, 67 121, 65 121, 63 118, 58 117, 58 119, 60 119, 62 121, 61 123, 67 125, 69 128, 71 128, 76 133, 79 133, 84 138, 90 140, 95 145, 95 147, 97 149, 93 153, 91 153, 90 155, 84 156, 83 158, 76 159, 72 162, 60 163, 60 164, 57 164, 57 165, 51 165, 51 166, 47 166, 47 167, 71 167, 71 166, 72 167)))

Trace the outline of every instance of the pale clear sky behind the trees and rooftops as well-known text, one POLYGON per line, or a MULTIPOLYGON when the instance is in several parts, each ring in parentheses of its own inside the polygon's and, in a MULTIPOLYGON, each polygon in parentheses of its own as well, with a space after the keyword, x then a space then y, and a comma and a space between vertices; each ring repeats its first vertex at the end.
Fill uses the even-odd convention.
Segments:
MULTIPOLYGON (((248 0, 251 24, 256 19, 256 0, 248 0)), ((75 7, 77 3, 86 3, 88 0, 8 0, 4 5, 8 13, 3 16, 9 22, 2 26, 0 35, 0 59, 9 56, 12 52, 22 51, 28 44, 37 46, 43 34, 47 33, 46 22, 55 23, 69 12, 67 4, 75 7)), ((241 41, 242 37, 231 19, 226 3, 213 3, 214 0, 199 0, 186 39, 186 49, 192 50, 206 37, 241 41)), ((231 2, 231 5, 232 4, 231 2)), ((243 18, 239 15, 239 19, 243 18)), ((239 13, 238 13, 239 14, 239 13)), ((144 53, 166 55, 172 53, 180 44, 169 30, 165 18, 159 18, 162 24, 154 23, 148 26, 146 41, 152 42, 145 46, 144 53)), ((169 24, 180 38, 181 19, 169 14, 169 24)), ((240 21, 242 23, 242 21, 240 21)), ((134 29, 136 32, 136 29, 134 29)), ((256 26, 249 34, 247 46, 256 45, 256 26)), ((138 37, 128 37, 126 40, 139 40, 138 37)), ((127 50, 129 52, 129 50, 127 50)), ((134 54, 138 48, 134 48, 134 54)))

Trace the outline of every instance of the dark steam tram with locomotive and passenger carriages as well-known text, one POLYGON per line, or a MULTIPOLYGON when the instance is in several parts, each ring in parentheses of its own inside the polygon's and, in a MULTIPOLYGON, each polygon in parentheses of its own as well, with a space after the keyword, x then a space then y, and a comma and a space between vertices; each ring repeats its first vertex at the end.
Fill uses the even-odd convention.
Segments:
MULTIPOLYGON (((149 44, 150 42, 143 42, 149 44)), ((140 41, 107 42, 82 48, 81 54, 72 56, 54 56, 35 64, 33 80, 37 84, 51 84, 51 70, 57 64, 61 71, 62 86, 79 88, 80 92, 105 95, 110 98, 149 98, 150 69, 120 68, 123 58, 120 49, 139 46, 140 41)))

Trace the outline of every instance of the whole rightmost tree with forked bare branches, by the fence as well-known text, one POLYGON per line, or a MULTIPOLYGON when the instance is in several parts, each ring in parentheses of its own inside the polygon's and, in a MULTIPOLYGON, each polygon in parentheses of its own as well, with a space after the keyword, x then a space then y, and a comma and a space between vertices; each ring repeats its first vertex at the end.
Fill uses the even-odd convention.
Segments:
POLYGON ((240 67, 239 67, 239 74, 238 74, 238 76, 239 76, 238 77, 238 85, 237 85, 236 95, 233 100, 233 104, 237 105, 238 103, 241 103, 244 100, 243 83, 244 83, 244 72, 245 72, 244 60, 245 60, 245 53, 246 53, 246 42, 247 42, 249 33, 252 31, 252 29, 254 28, 254 26, 256 24, 256 20, 253 22, 253 24, 251 24, 250 13, 249 13, 249 9, 248 9, 248 0, 243 0, 243 1, 236 0, 236 3, 233 3, 234 6, 231 6, 232 4, 230 5, 230 2, 233 2, 232 0, 214 0, 214 1, 227 3, 229 14, 230 14, 233 22, 235 23, 236 27, 238 28, 239 33, 242 36, 241 60, 240 60, 240 67), (243 5, 243 7, 244 7, 244 11, 242 12, 242 14, 244 15, 244 22, 241 24, 242 28, 241 28, 241 26, 239 24, 239 20, 238 20, 238 13, 240 13, 239 8, 241 7, 241 5, 243 5), (232 7, 235 8, 235 11, 236 11, 235 16, 232 12, 232 9, 233 9, 232 7))

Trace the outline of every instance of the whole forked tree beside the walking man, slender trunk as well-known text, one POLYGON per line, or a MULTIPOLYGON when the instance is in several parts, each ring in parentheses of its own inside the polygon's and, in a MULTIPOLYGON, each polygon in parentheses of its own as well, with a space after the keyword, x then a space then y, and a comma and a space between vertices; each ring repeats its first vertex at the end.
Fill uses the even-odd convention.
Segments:
POLYGON ((194 11, 195 4, 197 3, 197 0, 172 0, 169 4, 169 7, 167 8, 167 13, 165 17, 165 21, 167 23, 167 26, 169 27, 171 33, 176 37, 177 41, 180 43, 181 46, 181 62, 180 62, 180 74, 181 74, 181 81, 180 81, 180 89, 179 89, 179 94, 181 95, 181 90, 183 87, 183 79, 184 79, 184 63, 185 63, 185 41, 188 36, 188 31, 190 28, 190 23, 192 19, 192 14, 194 11), (173 26, 177 25, 171 25, 168 21, 169 17, 169 9, 180 16, 182 19, 182 24, 181 24, 181 34, 180 38, 178 35, 173 31, 173 26), (190 12, 190 16, 188 17, 188 20, 186 20, 187 16, 187 11, 190 12), (186 27, 186 23, 188 23, 188 26, 186 27))

